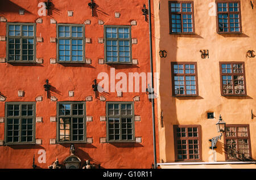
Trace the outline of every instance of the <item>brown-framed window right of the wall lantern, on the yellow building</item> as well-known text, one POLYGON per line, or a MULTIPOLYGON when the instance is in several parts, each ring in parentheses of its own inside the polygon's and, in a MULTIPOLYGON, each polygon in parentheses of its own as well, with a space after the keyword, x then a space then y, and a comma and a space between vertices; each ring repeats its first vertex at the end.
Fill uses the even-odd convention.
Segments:
POLYGON ((249 125, 226 125, 224 144, 226 160, 250 160, 249 125))

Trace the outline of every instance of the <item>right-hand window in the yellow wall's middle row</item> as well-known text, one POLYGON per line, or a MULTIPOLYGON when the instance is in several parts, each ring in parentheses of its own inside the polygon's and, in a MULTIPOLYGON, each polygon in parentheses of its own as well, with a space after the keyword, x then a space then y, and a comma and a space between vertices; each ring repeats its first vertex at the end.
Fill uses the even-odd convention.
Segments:
POLYGON ((245 63, 220 62, 220 68, 222 95, 246 95, 245 63))

